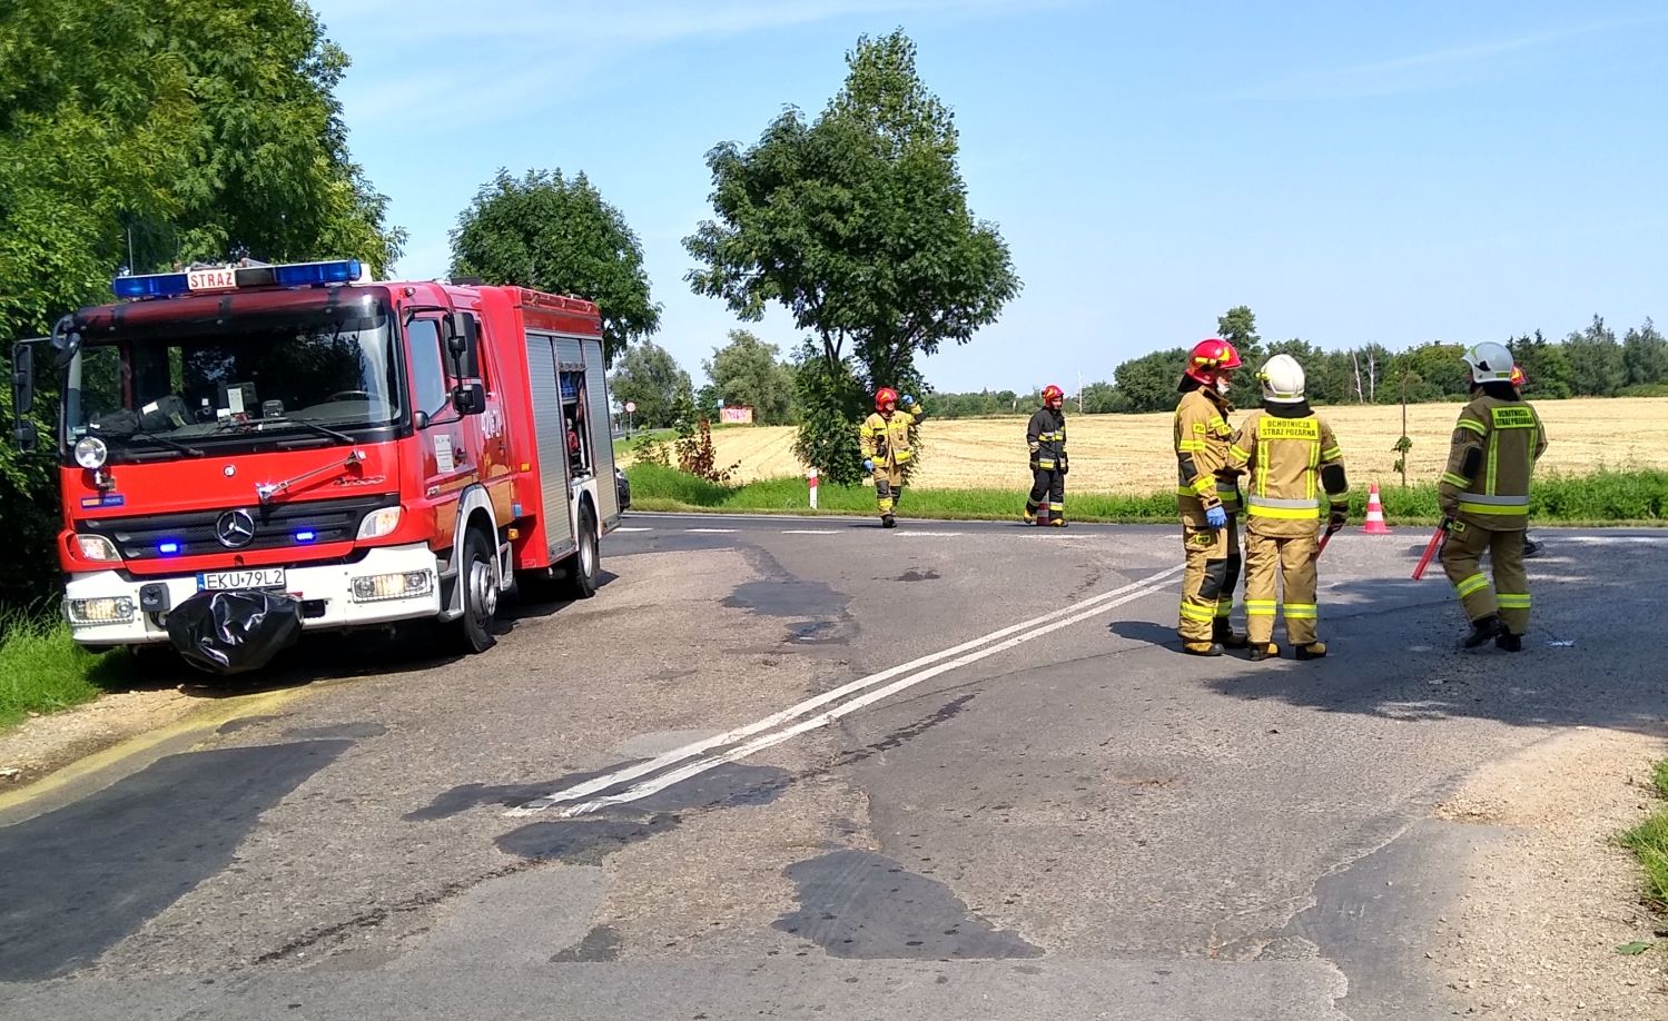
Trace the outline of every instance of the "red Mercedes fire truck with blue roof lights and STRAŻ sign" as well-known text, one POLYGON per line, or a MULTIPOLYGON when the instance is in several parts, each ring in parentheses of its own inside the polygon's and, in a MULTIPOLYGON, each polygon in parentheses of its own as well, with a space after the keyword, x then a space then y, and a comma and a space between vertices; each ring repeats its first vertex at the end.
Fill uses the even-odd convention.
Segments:
POLYGON ((359 260, 115 280, 13 352, 62 384, 65 617, 90 647, 265 664, 304 631, 589 597, 619 524, 602 329, 522 287, 370 282, 359 260))

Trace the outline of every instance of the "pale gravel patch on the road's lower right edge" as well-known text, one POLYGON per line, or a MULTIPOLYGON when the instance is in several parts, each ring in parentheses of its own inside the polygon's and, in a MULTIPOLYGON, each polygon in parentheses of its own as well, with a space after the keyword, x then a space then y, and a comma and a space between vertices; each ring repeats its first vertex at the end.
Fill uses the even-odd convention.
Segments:
POLYGON ((1480 769, 1436 809, 1518 831, 1465 863, 1468 893, 1443 921, 1438 963, 1476 1016, 1540 1021, 1668 1016, 1663 921, 1640 904, 1638 868, 1615 836, 1653 807, 1668 727, 1580 727, 1480 769))

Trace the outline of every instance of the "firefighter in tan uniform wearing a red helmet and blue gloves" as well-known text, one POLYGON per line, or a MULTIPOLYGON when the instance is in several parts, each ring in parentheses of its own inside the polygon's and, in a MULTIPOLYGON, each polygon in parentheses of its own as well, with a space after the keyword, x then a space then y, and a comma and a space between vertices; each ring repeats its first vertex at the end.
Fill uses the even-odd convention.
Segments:
POLYGON ((1209 337, 1188 352, 1176 404, 1176 464, 1181 544, 1181 616, 1176 632, 1191 656, 1221 656, 1223 646, 1243 647, 1228 614, 1239 582, 1239 490, 1228 472, 1228 384, 1239 369, 1234 345, 1209 337))

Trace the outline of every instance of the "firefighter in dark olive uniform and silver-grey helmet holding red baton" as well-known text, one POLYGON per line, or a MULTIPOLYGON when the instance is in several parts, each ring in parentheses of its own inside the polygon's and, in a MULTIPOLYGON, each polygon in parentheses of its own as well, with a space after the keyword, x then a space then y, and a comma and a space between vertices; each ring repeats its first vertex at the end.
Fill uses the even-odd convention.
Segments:
POLYGON ((1465 352, 1471 367, 1471 404, 1460 412, 1448 470, 1436 485, 1448 526, 1443 571, 1453 582, 1471 634, 1465 647, 1495 639, 1508 652, 1523 649, 1530 626, 1530 576, 1523 539, 1530 527, 1530 474, 1546 452, 1546 430, 1511 385, 1511 352, 1478 344, 1465 352), (1495 564, 1495 587, 1481 571, 1495 564))

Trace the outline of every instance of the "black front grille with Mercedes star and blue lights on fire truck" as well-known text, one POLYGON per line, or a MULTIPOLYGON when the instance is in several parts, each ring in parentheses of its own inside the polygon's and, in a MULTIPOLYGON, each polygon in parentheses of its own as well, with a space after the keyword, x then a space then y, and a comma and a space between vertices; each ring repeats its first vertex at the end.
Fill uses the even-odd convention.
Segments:
POLYGON ((103 536, 115 544, 125 561, 192 557, 227 551, 347 542, 359 534, 359 522, 365 514, 389 504, 390 499, 385 495, 295 500, 267 507, 257 504, 183 514, 100 517, 77 522, 75 531, 103 536), (250 532, 247 539, 244 537, 245 531, 250 532), (230 542, 222 537, 230 539, 230 542))

